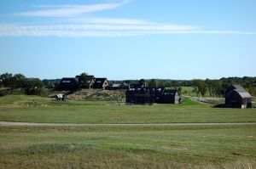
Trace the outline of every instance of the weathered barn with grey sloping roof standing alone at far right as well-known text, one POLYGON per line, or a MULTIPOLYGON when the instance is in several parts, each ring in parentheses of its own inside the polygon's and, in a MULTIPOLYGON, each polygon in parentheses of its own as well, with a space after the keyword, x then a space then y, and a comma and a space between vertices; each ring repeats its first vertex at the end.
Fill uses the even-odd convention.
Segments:
POLYGON ((252 96, 240 85, 227 88, 225 106, 228 108, 252 108, 252 96))

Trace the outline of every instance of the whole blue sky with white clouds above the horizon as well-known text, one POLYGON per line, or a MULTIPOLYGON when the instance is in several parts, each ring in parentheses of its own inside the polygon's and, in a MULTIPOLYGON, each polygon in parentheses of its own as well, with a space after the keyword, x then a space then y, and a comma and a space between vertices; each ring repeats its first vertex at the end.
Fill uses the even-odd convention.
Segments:
POLYGON ((0 1, 0 74, 256 76, 255 0, 0 1))

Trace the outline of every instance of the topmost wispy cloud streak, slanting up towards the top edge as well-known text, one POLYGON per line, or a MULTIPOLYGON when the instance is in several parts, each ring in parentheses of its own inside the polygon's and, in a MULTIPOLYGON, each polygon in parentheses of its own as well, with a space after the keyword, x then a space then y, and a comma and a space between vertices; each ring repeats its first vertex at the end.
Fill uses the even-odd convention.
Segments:
POLYGON ((128 2, 129 1, 122 1, 120 3, 98 3, 90 5, 41 5, 38 6, 38 8, 40 8, 38 10, 26 11, 15 15, 34 17, 67 17, 119 8, 128 2))

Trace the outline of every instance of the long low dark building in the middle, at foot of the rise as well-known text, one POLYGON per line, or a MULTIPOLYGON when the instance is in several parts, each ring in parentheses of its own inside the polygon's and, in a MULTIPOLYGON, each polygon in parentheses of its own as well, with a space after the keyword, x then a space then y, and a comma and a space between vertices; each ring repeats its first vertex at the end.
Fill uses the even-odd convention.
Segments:
POLYGON ((179 104, 181 94, 177 90, 166 90, 164 87, 141 87, 126 90, 126 103, 130 104, 179 104))

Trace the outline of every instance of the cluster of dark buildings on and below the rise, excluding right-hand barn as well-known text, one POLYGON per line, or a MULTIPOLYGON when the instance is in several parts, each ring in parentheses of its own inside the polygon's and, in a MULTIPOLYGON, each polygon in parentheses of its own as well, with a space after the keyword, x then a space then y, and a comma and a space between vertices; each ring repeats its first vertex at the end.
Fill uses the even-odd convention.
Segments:
MULTIPOLYGON (((144 85, 125 82, 109 83, 107 78, 88 77, 88 88, 102 88, 108 90, 125 89, 126 103, 129 104, 181 104, 181 93, 177 90, 167 90, 164 87, 145 87, 144 85)), ((82 76, 63 77, 56 87, 60 91, 72 91, 81 86, 82 76)))

